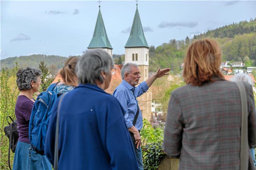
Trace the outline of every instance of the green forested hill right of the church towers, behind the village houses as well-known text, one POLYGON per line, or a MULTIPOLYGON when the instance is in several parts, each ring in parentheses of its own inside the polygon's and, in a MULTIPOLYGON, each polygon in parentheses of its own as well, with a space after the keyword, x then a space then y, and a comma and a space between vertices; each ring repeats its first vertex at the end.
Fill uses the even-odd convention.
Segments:
POLYGON ((158 67, 171 68, 173 73, 179 73, 179 66, 186 55, 188 45, 196 39, 211 38, 216 40, 223 52, 223 61, 242 61, 249 66, 256 66, 256 18, 249 22, 241 21, 204 34, 195 35, 193 39, 170 40, 162 45, 150 46, 149 71, 158 67))

